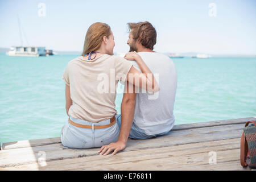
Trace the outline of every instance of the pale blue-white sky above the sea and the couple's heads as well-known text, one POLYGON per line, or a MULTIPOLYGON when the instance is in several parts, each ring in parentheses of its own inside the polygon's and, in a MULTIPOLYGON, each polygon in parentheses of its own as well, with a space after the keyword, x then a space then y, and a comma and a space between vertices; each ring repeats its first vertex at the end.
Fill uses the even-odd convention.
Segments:
POLYGON ((20 46, 17 15, 25 32, 23 46, 27 46, 26 36, 29 46, 81 51, 90 24, 104 22, 114 33, 114 52, 127 52, 127 23, 147 20, 158 34, 157 52, 256 55, 254 0, 1 0, 0 47, 20 46), (40 3, 46 6, 45 16, 40 3), (216 11, 209 7, 210 3, 214 3, 216 11))

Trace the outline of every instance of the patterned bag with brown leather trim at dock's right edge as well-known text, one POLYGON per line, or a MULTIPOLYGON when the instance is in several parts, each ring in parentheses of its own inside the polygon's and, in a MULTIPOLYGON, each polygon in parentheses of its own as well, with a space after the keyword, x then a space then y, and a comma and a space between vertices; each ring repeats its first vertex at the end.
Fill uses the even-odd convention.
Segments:
POLYGON ((240 162, 243 167, 247 165, 256 168, 256 122, 247 121, 241 137, 240 162), (250 123, 253 123, 251 125, 250 123), (249 125, 250 124, 250 125, 249 125), (248 126, 249 125, 249 126, 248 126), (248 145, 249 143, 249 145, 248 145))

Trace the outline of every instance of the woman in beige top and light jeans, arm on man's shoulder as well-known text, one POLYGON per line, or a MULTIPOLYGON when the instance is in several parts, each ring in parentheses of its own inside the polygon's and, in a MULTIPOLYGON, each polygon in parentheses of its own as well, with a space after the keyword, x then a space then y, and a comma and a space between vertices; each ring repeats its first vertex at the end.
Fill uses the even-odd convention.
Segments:
POLYGON ((118 81, 151 92, 158 83, 136 52, 125 58, 113 55, 113 32, 106 23, 93 23, 86 32, 82 55, 69 61, 63 74, 68 121, 61 143, 70 148, 101 147, 116 142, 115 96, 118 81), (127 60, 137 61, 141 72, 127 60))

